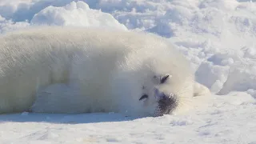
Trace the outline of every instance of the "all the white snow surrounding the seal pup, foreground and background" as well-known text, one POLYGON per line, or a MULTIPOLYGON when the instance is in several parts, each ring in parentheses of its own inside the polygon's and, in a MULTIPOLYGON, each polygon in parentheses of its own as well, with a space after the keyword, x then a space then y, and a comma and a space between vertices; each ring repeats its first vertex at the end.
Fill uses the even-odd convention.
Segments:
POLYGON ((256 143, 255 0, 1 0, 0 33, 104 26, 168 38, 209 87, 183 115, 3 114, 0 143, 256 143))

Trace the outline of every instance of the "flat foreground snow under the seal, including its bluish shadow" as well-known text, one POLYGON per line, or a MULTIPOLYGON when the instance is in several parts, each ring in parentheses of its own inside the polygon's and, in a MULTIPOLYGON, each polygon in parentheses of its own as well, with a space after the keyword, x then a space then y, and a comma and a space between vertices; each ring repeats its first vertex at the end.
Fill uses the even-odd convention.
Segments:
POLYGON ((158 118, 122 114, 1 115, 0 141, 19 143, 254 143, 256 104, 244 92, 213 95, 205 109, 158 118))

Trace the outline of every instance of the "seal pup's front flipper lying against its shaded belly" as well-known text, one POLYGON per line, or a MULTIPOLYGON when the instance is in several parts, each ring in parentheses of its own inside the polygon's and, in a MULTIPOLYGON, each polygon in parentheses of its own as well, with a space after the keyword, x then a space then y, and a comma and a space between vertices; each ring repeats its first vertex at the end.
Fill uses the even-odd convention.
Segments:
POLYGON ((78 96, 78 89, 66 83, 57 83, 38 90, 30 112, 35 113, 74 113, 82 110, 79 106, 84 102, 78 96))

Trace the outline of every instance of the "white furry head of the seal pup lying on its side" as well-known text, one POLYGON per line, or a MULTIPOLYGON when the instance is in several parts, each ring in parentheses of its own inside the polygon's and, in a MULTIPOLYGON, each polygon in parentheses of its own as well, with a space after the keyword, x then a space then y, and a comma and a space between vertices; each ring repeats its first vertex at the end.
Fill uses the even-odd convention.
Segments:
MULTIPOLYGON (((166 50, 167 51, 167 50, 166 50)), ((114 75, 114 98, 127 115, 162 116, 193 95, 193 77, 186 61, 175 54, 152 52, 127 58, 114 75), (154 54, 153 54, 154 53, 154 54)))

